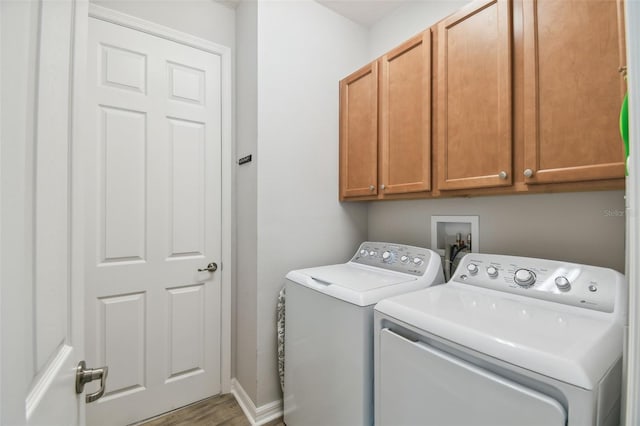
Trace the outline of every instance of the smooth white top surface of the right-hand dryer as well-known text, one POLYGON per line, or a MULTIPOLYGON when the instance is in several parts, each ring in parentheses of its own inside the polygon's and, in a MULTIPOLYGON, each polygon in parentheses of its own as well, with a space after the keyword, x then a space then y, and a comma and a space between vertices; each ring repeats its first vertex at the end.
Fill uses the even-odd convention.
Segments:
POLYGON ((592 390, 622 356, 599 312, 450 282, 383 300, 389 317, 527 370, 592 390))

